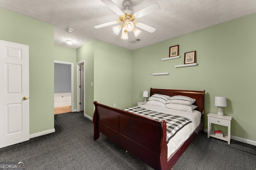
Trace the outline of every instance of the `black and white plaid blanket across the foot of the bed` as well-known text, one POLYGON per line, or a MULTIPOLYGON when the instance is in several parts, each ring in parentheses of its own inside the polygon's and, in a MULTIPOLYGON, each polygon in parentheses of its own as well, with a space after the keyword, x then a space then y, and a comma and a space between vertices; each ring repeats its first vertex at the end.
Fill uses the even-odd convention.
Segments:
POLYGON ((188 123, 192 123, 192 121, 186 117, 177 116, 177 115, 169 115, 166 113, 161 113, 153 110, 148 110, 143 107, 131 107, 128 109, 124 109, 125 111, 129 111, 132 113, 136 113, 138 115, 149 117, 150 119, 154 119, 157 121, 165 120, 166 121, 166 140, 167 143, 174 137, 174 135, 182 129, 188 123))

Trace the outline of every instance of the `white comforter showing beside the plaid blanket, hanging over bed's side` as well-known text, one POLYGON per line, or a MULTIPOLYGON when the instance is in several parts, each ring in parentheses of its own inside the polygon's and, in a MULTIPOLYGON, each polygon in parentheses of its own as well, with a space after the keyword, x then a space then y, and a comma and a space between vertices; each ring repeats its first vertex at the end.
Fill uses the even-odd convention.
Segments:
POLYGON ((172 137, 172 139, 167 144, 168 147, 168 155, 169 156, 182 145, 186 139, 190 136, 190 134, 196 129, 196 127, 200 124, 201 119, 201 113, 199 111, 193 110, 193 113, 186 112, 186 111, 178 111, 178 110, 172 110, 168 109, 166 107, 159 107, 159 106, 153 106, 149 104, 141 105, 140 107, 143 107, 145 109, 158 111, 162 113, 169 113, 171 115, 179 115, 182 117, 187 117, 192 121, 192 123, 188 123, 188 125, 184 126, 180 131, 172 137))

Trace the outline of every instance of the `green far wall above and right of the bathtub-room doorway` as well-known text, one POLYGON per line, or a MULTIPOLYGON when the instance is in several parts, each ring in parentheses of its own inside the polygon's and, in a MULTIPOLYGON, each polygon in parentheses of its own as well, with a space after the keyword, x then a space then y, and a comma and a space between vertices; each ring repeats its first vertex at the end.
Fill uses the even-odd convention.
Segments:
POLYGON ((76 49, 54 45, 54 61, 73 63, 74 65, 74 108, 76 109, 76 49))

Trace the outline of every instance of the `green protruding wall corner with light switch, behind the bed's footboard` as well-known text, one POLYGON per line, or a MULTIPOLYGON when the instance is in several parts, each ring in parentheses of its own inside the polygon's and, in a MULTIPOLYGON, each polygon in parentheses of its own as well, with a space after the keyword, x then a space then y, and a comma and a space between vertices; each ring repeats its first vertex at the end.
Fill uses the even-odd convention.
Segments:
POLYGON ((93 116, 93 101, 120 109, 131 106, 132 51, 92 39, 77 49, 80 61, 85 63, 85 115, 93 116))

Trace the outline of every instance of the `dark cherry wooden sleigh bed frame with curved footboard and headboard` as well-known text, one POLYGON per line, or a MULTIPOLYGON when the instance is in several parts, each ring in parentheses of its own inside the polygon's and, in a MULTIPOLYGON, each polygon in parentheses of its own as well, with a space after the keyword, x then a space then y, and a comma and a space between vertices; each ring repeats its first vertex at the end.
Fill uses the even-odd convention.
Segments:
POLYGON ((155 170, 170 170, 188 148, 196 135, 204 130, 205 91, 150 89, 153 94, 188 96, 196 99, 196 110, 202 113, 201 123, 190 137, 167 158, 166 122, 156 121, 128 111, 94 102, 94 140, 100 133, 140 158, 155 170))

